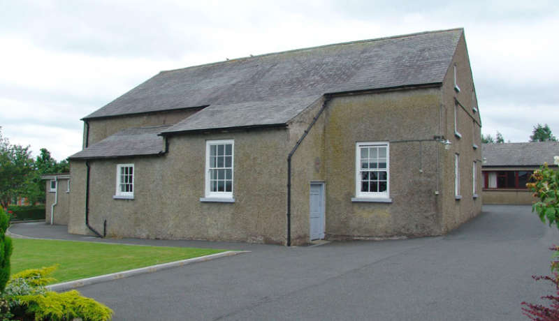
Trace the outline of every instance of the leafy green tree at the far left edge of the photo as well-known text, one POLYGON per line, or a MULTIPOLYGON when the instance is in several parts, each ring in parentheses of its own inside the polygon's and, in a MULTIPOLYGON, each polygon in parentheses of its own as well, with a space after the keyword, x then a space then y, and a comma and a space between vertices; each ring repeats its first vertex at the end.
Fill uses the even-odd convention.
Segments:
POLYGON ((30 174, 33 172, 33 159, 29 146, 10 144, 4 138, 0 127, 0 205, 8 207, 17 196, 26 195, 30 174))

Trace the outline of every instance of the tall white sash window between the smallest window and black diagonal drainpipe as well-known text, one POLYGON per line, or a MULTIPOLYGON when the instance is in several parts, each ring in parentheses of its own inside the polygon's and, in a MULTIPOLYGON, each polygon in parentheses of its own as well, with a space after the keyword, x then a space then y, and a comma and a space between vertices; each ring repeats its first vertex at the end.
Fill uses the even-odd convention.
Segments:
POLYGON ((205 155, 205 197, 233 198, 233 140, 209 140, 205 155))

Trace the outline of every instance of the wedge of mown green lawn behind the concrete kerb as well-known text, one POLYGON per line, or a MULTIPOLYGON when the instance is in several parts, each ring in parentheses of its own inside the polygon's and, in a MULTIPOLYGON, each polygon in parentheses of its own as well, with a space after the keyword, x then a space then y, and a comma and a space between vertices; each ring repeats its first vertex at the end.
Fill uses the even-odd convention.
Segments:
POLYGON ((52 274, 58 283, 224 251, 14 238, 11 272, 59 264, 52 274))

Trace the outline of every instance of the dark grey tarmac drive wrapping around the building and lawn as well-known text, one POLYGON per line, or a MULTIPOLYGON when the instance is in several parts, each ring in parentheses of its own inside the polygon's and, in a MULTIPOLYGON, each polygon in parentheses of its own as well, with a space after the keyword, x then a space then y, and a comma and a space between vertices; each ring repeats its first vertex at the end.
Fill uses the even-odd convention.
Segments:
MULTIPOLYGON (((10 230, 83 240, 44 224, 10 230)), ((79 289, 114 320, 528 320, 521 301, 553 290, 530 276, 549 273, 559 233, 530 207, 486 206, 445 237, 296 248, 101 241, 252 251, 79 289)))

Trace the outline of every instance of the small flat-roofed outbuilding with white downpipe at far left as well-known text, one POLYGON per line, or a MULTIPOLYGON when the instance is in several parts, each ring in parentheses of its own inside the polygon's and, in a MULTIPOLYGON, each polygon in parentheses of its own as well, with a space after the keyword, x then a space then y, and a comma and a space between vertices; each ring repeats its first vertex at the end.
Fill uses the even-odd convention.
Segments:
POLYGON ((46 181, 45 222, 68 225, 70 214, 70 173, 41 176, 46 181))

